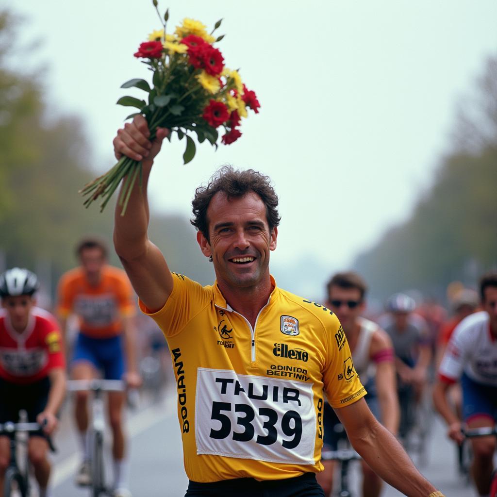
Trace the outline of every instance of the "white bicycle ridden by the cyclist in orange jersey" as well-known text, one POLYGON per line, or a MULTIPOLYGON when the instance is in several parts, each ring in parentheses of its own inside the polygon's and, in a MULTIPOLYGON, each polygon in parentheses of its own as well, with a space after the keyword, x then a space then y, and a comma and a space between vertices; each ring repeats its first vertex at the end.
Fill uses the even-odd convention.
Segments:
POLYGON ((91 410, 91 484, 90 495, 100 497, 111 496, 112 491, 105 485, 103 463, 103 435, 105 431, 105 417, 103 413, 103 392, 123 392, 126 385, 122 380, 69 380, 68 391, 87 392, 93 394, 91 410))

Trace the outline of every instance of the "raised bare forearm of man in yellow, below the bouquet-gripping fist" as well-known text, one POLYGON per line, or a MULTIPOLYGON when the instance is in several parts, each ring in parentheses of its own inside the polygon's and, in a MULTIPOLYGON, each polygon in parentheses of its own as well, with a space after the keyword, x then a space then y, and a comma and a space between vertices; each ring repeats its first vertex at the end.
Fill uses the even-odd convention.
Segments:
POLYGON ((146 248, 150 219, 147 185, 152 164, 150 161, 142 163, 142 185, 140 186, 140 180, 137 178, 124 216, 121 216, 122 208, 116 204, 114 247, 117 254, 124 259, 132 259, 141 255, 146 248))

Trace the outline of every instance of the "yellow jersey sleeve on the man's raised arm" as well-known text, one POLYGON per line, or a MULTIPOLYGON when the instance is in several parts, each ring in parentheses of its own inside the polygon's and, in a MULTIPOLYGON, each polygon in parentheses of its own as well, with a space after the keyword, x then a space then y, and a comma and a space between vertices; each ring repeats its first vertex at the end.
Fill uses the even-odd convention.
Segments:
POLYGON ((172 273, 173 287, 164 307, 156 313, 150 313, 145 304, 139 300, 140 310, 150 316, 166 336, 181 332, 188 322, 201 309, 212 301, 211 287, 203 287, 196 281, 178 273, 172 273))

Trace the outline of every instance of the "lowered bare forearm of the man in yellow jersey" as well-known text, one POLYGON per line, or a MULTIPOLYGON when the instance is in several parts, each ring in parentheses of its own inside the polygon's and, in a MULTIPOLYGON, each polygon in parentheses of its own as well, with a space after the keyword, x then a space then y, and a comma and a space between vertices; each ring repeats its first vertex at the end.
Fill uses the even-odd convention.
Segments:
POLYGON ((385 482, 408 497, 427 497, 436 489, 414 467, 401 444, 379 423, 364 437, 350 437, 354 449, 385 482))

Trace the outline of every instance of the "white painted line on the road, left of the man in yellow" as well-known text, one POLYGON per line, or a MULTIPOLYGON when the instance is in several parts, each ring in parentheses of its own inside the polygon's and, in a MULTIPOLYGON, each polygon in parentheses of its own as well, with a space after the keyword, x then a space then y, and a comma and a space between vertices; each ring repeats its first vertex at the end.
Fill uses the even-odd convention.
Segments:
MULTIPOLYGON (((163 419, 173 414, 175 403, 176 399, 174 396, 166 396, 161 403, 151 405, 133 417, 130 417, 127 423, 128 435, 131 438, 134 438, 154 426, 154 424, 161 422, 163 419)), ((79 452, 75 452, 71 456, 66 457, 63 461, 57 463, 57 465, 53 467, 51 477, 53 488, 73 476, 76 473, 80 462, 81 455, 79 452)))

